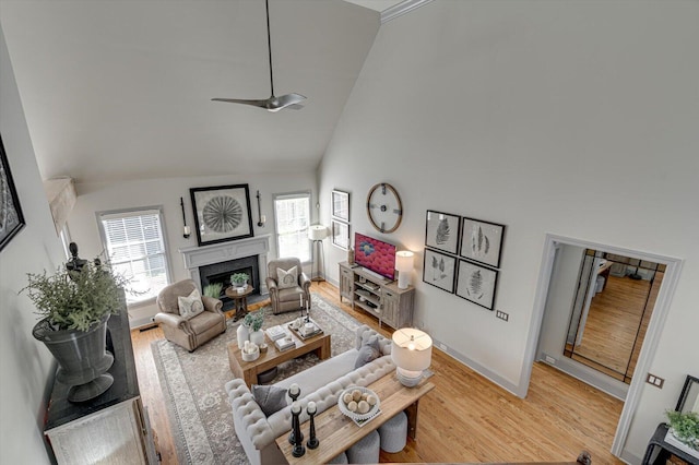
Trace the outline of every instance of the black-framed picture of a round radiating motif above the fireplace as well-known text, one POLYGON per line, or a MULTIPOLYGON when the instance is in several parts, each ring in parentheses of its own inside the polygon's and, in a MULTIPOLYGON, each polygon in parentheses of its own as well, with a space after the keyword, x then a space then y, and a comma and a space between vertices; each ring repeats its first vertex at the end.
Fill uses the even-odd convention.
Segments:
POLYGON ((189 190, 199 246, 252 237, 248 184, 189 190))

